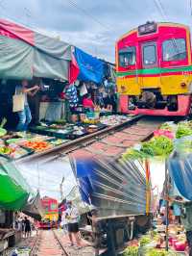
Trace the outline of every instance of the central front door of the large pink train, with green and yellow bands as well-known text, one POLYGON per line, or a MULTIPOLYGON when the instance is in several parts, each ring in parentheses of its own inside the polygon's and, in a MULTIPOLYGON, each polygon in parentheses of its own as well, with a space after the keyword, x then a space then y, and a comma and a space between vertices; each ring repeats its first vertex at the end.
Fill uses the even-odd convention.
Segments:
POLYGON ((160 88, 159 56, 156 41, 141 43, 141 90, 160 88))

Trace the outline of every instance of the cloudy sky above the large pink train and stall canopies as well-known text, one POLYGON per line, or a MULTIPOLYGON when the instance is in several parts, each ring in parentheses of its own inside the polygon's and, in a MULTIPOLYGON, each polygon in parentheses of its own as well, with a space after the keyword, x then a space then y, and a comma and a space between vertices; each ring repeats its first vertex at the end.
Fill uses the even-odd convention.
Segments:
POLYGON ((191 0, 0 0, 0 17, 114 62, 115 41, 146 21, 192 26, 191 0))

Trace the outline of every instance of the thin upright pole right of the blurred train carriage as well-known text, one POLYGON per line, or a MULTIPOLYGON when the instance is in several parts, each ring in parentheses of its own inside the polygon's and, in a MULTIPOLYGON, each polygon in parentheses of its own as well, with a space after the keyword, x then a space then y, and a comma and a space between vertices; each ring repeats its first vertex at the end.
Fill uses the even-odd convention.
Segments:
POLYGON ((166 235, 166 251, 169 250, 169 201, 168 201, 168 196, 169 196, 169 172, 167 168, 167 161, 165 160, 165 195, 166 195, 166 230, 165 230, 165 235, 166 235))

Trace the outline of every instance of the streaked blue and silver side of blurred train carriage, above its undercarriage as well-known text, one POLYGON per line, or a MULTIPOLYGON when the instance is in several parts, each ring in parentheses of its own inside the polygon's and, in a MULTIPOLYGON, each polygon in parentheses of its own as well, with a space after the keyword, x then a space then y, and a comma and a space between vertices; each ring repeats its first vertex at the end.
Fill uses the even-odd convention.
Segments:
POLYGON ((100 218, 146 214, 146 176, 141 164, 95 159, 90 166, 87 159, 75 157, 73 162, 82 199, 98 209, 100 218))

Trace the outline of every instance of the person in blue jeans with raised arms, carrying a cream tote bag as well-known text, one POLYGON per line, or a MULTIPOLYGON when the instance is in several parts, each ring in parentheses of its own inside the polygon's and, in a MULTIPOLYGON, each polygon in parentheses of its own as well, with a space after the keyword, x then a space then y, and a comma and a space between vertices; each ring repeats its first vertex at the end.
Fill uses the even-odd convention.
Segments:
POLYGON ((16 86, 15 88, 15 92, 17 94, 19 93, 24 93, 25 95, 25 103, 24 103, 24 109, 23 111, 19 111, 18 113, 18 117, 19 117, 19 121, 16 127, 17 131, 26 131, 28 128, 28 125, 30 124, 31 120, 32 120, 32 114, 31 114, 31 110, 28 104, 28 99, 27 96, 35 96, 36 92, 39 90, 38 86, 34 86, 32 88, 28 88, 29 83, 27 80, 23 80, 21 82, 21 85, 16 86))

